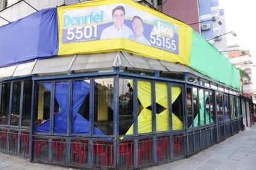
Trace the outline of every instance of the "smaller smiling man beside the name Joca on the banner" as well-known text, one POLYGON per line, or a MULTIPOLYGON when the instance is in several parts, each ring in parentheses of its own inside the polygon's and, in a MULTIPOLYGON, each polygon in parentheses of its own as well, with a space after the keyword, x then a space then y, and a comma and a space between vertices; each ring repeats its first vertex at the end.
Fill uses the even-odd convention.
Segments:
POLYGON ((144 23, 143 23, 143 20, 141 19, 141 17, 134 16, 132 18, 132 29, 134 31, 134 34, 131 34, 129 36, 129 39, 132 41, 143 43, 144 45, 151 46, 149 41, 143 35, 143 31, 144 31, 143 25, 144 25, 144 23))

